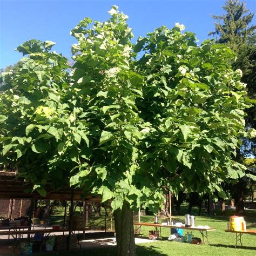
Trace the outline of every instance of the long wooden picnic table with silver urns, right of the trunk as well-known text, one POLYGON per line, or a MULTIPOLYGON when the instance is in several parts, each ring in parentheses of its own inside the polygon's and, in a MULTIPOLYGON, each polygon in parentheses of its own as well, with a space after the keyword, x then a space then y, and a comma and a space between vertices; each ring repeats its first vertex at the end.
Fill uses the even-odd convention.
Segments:
POLYGON ((140 230, 140 228, 142 226, 151 226, 151 227, 156 228, 157 231, 159 231, 160 236, 161 236, 161 228, 162 227, 178 228, 181 230, 199 231, 203 238, 203 244, 205 242, 205 239, 206 239, 206 242, 208 242, 208 244, 210 244, 210 242, 208 241, 208 233, 207 232, 216 230, 215 228, 211 228, 211 227, 198 228, 198 227, 184 227, 184 226, 174 226, 174 225, 161 225, 161 224, 153 224, 153 223, 133 223, 133 225, 135 225, 135 233, 137 233, 137 231, 140 230), (137 228, 137 226, 139 226, 139 227, 137 228))

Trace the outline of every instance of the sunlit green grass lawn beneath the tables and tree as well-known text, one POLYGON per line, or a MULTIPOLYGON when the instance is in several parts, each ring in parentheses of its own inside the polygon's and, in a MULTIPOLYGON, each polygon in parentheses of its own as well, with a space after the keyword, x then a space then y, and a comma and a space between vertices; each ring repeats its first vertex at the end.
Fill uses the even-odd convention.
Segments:
MULTIPOLYGON (((196 213, 196 208, 193 208, 193 213, 196 213)), ((186 213, 186 207, 183 207, 181 213, 186 213)), ((196 215, 196 214, 194 214, 196 215)), ((169 256, 169 255, 256 255, 256 235, 244 234, 242 235, 242 245, 243 247, 238 246, 234 249, 235 245, 235 234, 234 233, 226 233, 224 230, 226 229, 226 222, 229 219, 229 216, 234 215, 234 211, 228 210, 226 211, 226 215, 223 217, 221 215, 217 216, 208 216, 196 215, 196 225, 208 225, 210 227, 216 228, 216 231, 208 232, 208 240, 210 244, 204 245, 192 245, 187 244, 185 242, 174 242, 168 241, 167 237, 169 237, 170 230, 168 228, 162 228, 163 239, 158 242, 152 242, 148 244, 139 244, 137 245, 137 254, 138 256, 169 256)), ((104 217, 102 217, 104 218, 104 217)), ((142 216, 142 222, 151 222, 153 223, 153 216, 142 216)), ((161 218, 160 222, 165 221, 166 219, 161 218)), ((183 221, 184 215, 174 216, 174 221, 183 221)), ((247 229, 256 230, 256 210, 247 210, 246 211, 246 224, 247 229)), ((98 219, 100 222, 100 219, 98 219)), ((137 217, 134 217, 134 221, 137 221, 137 217)), ((54 221, 53 221, 54 222, 54 221)), ((97 221, 92 219, 93 223, 97 221)), ((149 230, 153 230, 152 227, 143 226, 141 233, 148 237, 149 230)), ((184 231, 186 232, 186 231, 184 231)), ((184 233, 185 234, 185 233, 184 233)), ((198 231, 193 231, 193 235, 195 237, 200 237, 201 235, 198 231)), ((116 255, 116 248, 106 247, 99 248, 94 250, 85 250, 85 251, 73 251, 73 252, 58 252, 52 255, 116 255)))

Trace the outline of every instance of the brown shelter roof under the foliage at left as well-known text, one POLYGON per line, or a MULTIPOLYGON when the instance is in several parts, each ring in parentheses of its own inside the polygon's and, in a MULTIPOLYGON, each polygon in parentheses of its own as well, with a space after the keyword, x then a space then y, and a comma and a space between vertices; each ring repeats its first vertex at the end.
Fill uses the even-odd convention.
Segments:
MULTIPOLYGON (((52 191, 46 186, 46 197, 42 197, 38 192, 24 192, 31 188, 23 178, 19 178, 17 172, 0 171, 0 199, 49 199, 49 200, 71 200, 70 186, 52 191)), ((73 190, 73 200, 75 201, 101 201, 100 197, 87 195, 84 197, 83 191, 73 190)))

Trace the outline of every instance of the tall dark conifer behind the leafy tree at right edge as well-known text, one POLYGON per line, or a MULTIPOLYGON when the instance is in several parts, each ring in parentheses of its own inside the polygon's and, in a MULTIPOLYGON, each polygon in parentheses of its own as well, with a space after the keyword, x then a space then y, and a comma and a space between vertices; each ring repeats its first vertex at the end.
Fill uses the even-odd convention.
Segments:
MULTIPOLYGON (((254 13, 246 9, 245 2, 238 0, 226 1, 223 9, 225 14, 220 16, 213 15, 215 19, 215 31, 209 35, 216 36, 215 42, 228 45, 237 55, 237 58, 232 61, 233 69, 241 69, 241 82, 247 84, 248 97, 252 103, 256 103, 256 63, 255 63, 255 25, 251 25, 254 13)), ((256 127, 256 106, 252 106, 246 110, 246 122, 248 127, 256 127)), ((250 142, 254 145, 256 138, 252 138, 250 142)), ((243 144, 247 144, 248 139, 242 139, 243 144)), ((242 151, 241 151, 242 152, 242 151)), ((238 152, 238 161, 246 157, 238 152)), ((255 154, 251 157, 256 157, 255 154)), ((237 214, 245 214, 244 198, 246 194, 246 182, 250 180, 242 178, 237 184, 232 184, 231 191, 235 199, 235 207, 237 214), (243 190, 244 189, 244 190, 243 190), (234 191, 236 191, 234 193, 234 191)))

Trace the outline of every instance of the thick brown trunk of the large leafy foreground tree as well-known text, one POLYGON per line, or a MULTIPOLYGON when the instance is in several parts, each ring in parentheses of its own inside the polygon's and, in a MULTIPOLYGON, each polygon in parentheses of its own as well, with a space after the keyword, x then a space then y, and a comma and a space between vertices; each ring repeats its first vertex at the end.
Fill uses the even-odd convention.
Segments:
POLYGON ((126 201, 122 210, 114 211, 114 225, 116 227, 117 256, 136 256, 133 214, 126 201))

